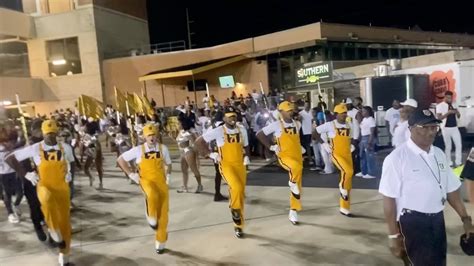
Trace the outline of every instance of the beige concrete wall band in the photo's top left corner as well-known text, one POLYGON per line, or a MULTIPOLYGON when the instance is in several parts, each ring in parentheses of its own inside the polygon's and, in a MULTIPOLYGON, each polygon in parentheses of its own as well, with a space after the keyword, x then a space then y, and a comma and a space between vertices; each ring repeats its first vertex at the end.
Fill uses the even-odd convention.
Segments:
POLYGON ((33 18, 21 12, 0 8, 0 35, 33 38, 35 36, 33 18))

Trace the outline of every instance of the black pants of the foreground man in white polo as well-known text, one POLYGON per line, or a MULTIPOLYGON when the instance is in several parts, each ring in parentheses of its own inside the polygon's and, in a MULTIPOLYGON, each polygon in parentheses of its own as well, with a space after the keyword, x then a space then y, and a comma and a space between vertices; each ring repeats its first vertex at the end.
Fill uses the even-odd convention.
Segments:
POLYGON ((423 214, 404 211, 400 231, 412 265, 446 265, 446 228, 443 212, 423 214))

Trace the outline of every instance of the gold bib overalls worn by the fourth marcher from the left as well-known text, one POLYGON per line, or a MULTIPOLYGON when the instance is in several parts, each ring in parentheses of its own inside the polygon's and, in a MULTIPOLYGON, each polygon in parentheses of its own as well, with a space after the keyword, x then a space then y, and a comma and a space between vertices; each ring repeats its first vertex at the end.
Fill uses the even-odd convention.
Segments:
POLYGON ((294 127, 285 128, 280 120, 281 135, 276 137, 276 142, 280 151, 277 154, 278 162, 288 171, 290 182, 298 185, 300 194, 296 195, 290 191, 290 209, 295 211, 301 210, 301 187, 303 180, 303 155, 301 153, 300 135, 296 128, 296 122, 293 121, 294 127))

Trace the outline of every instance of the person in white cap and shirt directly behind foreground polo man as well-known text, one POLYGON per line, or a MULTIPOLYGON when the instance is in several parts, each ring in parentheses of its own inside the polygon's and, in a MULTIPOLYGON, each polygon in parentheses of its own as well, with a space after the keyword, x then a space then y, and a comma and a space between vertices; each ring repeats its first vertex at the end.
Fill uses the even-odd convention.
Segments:
POLYGON ((393 129, 392 146, 398 147, 405 143, 410 138, 410 129, 408 128, 408 118, 418 107, 417 101, 414 99, 407 99, 401 103, 400 121, 393 129))

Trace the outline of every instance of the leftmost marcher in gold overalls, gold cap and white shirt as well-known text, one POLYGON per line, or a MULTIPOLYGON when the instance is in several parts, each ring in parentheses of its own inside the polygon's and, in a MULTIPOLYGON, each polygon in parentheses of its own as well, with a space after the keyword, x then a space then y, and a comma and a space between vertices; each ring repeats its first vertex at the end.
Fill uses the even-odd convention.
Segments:
POLYGON ((74 155, 70 146, 57 142, 58 126, 54 120, 41 124, 44 140, 11 153, 7 163, 20 176, 36 186, 50 237, 59 247, 59 264, 69 263, 71 244, 70 196, 68 183, 71 181, 70 163, 74 155), (36 170, 25 174, 19 161, 31 158, 36 170))

